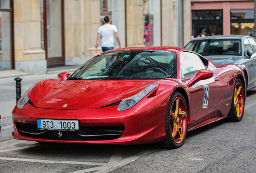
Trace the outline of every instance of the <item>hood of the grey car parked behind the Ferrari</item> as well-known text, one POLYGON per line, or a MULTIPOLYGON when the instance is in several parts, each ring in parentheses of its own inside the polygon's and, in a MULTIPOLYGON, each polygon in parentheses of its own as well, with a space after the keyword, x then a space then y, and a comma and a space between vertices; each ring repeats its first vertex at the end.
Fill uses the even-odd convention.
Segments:
POLYGON ((214 64, 224 65, 224 64, 243 64, 246 61, 246 58, 243 56, 235 56, 235 55, 212 55, 212 56, 204 56, 205 58, 212 60, 214 64))

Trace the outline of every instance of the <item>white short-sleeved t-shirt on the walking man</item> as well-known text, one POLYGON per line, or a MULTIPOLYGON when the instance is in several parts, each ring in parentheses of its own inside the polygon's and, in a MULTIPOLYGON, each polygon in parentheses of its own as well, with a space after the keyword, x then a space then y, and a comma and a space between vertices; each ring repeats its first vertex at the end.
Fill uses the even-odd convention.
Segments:
POLYGON ((101 47, 114 47, 114 32, 117 32, 115 25, 103 24, 99 27, 98 33, 101 33, 101 47))

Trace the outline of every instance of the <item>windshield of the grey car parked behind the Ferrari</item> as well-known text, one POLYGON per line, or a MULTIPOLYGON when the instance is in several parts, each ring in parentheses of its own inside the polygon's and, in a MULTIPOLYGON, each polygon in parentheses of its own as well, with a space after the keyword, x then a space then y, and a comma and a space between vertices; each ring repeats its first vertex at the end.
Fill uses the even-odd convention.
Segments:
POLYGON ((241 55, 241 40, 238 39, 209 39, 194 40, 185 48, 203 56, 206 55, 241 55))

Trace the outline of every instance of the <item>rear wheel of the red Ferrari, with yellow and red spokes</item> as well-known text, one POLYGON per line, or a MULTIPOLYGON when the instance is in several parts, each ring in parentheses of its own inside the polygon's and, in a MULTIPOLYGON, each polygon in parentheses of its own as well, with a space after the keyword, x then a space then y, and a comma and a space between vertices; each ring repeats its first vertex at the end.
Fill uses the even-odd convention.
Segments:
POLYGON ((235 80, 231 109, 227 119, 231 122, 241 121, 244 115, 245 89, 240 79, 235 80))

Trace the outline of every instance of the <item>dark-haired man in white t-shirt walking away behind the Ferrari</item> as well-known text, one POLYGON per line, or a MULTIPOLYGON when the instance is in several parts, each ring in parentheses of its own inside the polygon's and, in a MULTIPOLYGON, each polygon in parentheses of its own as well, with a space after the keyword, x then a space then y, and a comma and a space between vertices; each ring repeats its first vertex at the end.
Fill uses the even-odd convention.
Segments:
POLYGON ((110 24, 111 20, 109 20, 108 16, 105 16, 103 22, 105 24, 100 26, 98 29, 98 37, 96 40, 95 52, 98 52, 98 44, 99 44, 100 38, 101 38, 102 52, 114 49, 114 36, 116 36, 116 40, 119 44, 119 47, 122 48, 116 26, 110 24))

